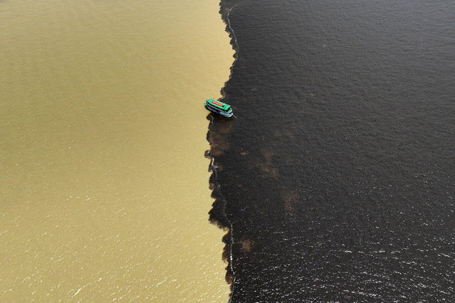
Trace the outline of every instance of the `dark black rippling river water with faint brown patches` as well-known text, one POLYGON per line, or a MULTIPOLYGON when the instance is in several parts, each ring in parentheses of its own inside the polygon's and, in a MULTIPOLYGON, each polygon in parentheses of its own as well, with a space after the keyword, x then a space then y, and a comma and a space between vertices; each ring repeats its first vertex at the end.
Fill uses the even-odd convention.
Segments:
POLYGON ((208 134, 232 302, 453 302, 455 1, 233 6, 236 119, 208 134))

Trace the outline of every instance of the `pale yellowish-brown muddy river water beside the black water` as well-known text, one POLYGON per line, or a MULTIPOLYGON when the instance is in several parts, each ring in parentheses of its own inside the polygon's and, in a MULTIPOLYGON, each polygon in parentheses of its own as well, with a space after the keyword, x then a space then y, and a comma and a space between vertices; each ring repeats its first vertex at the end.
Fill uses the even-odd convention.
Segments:
POLYGON ((0 1, 0 302, 226 302, 217 0, 0 1))

